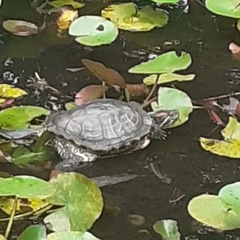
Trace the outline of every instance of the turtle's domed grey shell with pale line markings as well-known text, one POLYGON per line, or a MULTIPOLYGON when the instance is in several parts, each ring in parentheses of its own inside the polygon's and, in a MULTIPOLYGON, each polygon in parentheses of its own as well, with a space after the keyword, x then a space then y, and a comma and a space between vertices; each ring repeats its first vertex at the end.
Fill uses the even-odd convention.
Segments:
POLYGON ((100 99, 51 114, 48 131, 93 151, 109 151, 150 132, 152 119, 135 102, 100 99))

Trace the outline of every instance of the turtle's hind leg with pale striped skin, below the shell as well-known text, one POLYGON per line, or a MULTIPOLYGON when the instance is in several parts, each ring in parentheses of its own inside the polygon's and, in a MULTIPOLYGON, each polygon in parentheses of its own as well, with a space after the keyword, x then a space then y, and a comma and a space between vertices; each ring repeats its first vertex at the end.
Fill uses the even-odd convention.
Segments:
POLYGON ((62 159, 55 166, 56 170, 71 172, 81 167, 82 164, 93 162, 98 158, 96 154, 77 147, 72 142, 62 138, 55 138, 52 144, 62 159))

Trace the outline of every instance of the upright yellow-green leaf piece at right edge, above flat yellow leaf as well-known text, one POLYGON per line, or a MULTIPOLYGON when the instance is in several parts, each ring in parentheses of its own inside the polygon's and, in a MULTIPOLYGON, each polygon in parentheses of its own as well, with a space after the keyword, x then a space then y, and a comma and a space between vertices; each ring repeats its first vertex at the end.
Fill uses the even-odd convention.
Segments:
POLYGON ((224 139, 240 141, 240 123, 236 118, 230 117, 227 126, 221 131, 224 139))

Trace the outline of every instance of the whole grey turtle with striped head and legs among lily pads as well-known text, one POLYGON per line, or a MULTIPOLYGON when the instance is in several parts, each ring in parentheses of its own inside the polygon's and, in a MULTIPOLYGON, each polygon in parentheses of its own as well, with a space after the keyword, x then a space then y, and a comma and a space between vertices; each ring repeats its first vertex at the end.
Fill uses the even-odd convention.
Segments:
MULTIPOLYGON (((47 116, 44 129, 61 157, 56 170, 73 171, 98 158, 127 154, 165 139, 165 128, 179 118, 178 110, 146 112, 137 102, 98 99, 47 116)), ((3 134, 1 134, 3 135, 3 134)))

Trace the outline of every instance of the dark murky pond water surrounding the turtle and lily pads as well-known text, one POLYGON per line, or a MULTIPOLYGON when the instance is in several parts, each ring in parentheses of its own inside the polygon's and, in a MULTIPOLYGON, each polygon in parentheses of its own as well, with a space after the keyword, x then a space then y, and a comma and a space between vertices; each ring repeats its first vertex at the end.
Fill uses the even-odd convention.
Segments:
MULTIPOLYGON (((21 1, 21 6, 19 0, 8 2, 9 4, 4 3, 0 9, 1 20, 26 16, 26 20, 41 21, 39 16, 34 15, 31 10, 27 12, 23 7, 28 1, 21 1)), ((89 1, 89 6, 81 12, 98 14, 100 9, 99 3, 89 1)), ((147 33, 123 32, 111 45, 96 47, 92 51, 81 48, 73 40, 56 41, 50 39, 51 35, 41 38, 17 38, 2 30, 1 83, 14 83, 25 88, 29 76, 38 72, 49 85, 67 94, 70 100, 74 92, 82 87, 99 83, 85 69, 75 73, 66 70, 70 67, 81 67, 82 58, 102 62, 118 70, 129 83, 140 83, 142 76, 129 74, 127 70, 141 60, 129 55, 134 50, 141 49, 151 53, 153 47, 161 47, 163 52, 184 50, 191 53, 193 64, 187 72, 195 73, 196 78, 192 82, 179 83, 177 87, 192 99, 238 91, 240 62, 234 60, 228 51, 230 42, 240 42, 235 21, 216 17, 195 1, 191 3, 189 14, 173 10, 170 15, 170 23, 163 29, 147 33), (164 45, 173 40, 178 40, 179 44, 164 45), (10 64, 6 64, 8 57, 12 60, 10 64)), ((29 89, 29 92, 29 96, 21 104, 35 104, 53 109, 62 107, 66 101, 47 92, 41 93, 32 89, 29 89)), ((206 111, 195 110, 187 123, 171 130, 166 141, 153 141, 145 150, 99 160, 82 168, 81 172, 89 177, 118 173, 139 175, 135 180, 102 189, 108 201, 110 199, 121 211, 117 216, 105 211, 92 229, 94 234, 104 240, 160 239, 152 230, 153 223, 172 218, 178 221, 183 237, 198 233, 201 239, 237 239, 237 233, 224 235, 198 231, 186 209, 192 197, 206 192, 217 193, 223 185, 239 180, 238 160, 219 157, 200 148, 199 137, 208 137, 214 127, 206 111), (152 164, 157 165, 168 181, 162 181, 153 173, 152 164), (185 197, 171 203, 170 200, 176 198, 176 189, 179 195, 184 194, 185 197), (129 215, 132 214, 143 216, 145 222, 139 227, 134 226, 129 222, 129 215)), ((1 170, 28 173, 23 169, 12 172, 12 167, 4 164, 1 165, 1 170)), ((41 173, 37 175, 46 177, 41 173)), ((21 223, 18 222, 17 225, 17 228, 21 228, 21 223)))

